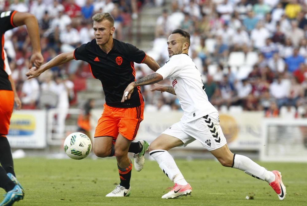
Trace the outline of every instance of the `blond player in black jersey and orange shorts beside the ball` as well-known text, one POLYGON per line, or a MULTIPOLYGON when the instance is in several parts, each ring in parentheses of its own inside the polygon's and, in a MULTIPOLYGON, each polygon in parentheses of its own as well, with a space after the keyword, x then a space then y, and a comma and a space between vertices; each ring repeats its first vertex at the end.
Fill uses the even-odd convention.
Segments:
POLYGON ((72 59, 88 62, 94 78, 103 85, 106 103, 103 114, 95 129, 94 153, 98 157, 114 156, 117 159, 120 184, 106 196, 129 196, 132 163, 128 152, 134 154, 137 171, 143 168, 146 141, 132 142, 143 120, 144 99, 139 87, 130 100, 121 102, 122 91, 135 81, 134 62, 145 63, 156 71, 160 68, 152 57, 135 46, 113 38, 114 18, 109 13, 98 13, 92 17, 95 39, 74 51, 62 53, 26 73, 28 79, 38 77, 42 72, 72 59))

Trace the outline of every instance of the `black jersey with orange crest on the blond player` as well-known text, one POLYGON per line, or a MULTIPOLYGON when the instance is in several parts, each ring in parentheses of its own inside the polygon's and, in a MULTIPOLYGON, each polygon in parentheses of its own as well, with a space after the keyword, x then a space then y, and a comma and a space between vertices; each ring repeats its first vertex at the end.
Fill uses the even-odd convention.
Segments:
POLYGON ((129 100, 121 102, 126 87, 135 80, 134 62, 142 63, 146 53, 137 47, 113 39, 113 48, 105 53, 93 39, 74 51, 76 60, 89 64, 94 78, 103 85, 106 104, 111 107, 132 108, 144 102, 140 87, 134 88, 129 100))

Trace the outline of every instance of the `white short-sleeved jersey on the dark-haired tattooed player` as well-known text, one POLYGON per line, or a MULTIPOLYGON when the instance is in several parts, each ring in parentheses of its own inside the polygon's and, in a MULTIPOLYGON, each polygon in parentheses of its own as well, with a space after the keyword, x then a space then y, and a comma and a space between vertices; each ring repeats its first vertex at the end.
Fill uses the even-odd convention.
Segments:
POLYGON ((184 112, 181 118, 183 123, 217 112, 208 101, 199 70, 187 54, 173 55, 156 73, 163 79, 171 79, 184 112))

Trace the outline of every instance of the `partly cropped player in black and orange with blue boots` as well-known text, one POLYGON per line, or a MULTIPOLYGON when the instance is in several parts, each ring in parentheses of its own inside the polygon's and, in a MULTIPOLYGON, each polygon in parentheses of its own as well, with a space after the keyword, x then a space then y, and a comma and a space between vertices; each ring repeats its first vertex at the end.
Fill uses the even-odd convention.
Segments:
MULTIPOLYGON (((15 10, 0 12, 0 187, 7 192, 0 205, 12 205, 23 199, 24 189, 15 177, 11 148, 6 135, 9 132, 10 118, 14 101, 18 98, 14 81, 6 68, 4 53, 4 33, 16 26, 25 25, 32 44, 30 65, 39 67, 44 58, 41 55, 40 37, 37 19, 33 14, 15 10)), ((18 98, 19 100, 19 98, 18 98)))

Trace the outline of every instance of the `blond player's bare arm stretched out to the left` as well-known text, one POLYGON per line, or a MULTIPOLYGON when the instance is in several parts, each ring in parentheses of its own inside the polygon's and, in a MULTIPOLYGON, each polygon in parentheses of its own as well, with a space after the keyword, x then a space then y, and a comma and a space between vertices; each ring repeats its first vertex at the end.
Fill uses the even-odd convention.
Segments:
POLYGON ((73 59, 74 59, 74 51, 61 53, 56 57, 54 57, 52 60, 48 61, 46 64, 41 65, 40 68, 32 67, 27 73, 25 73, 25 75, 27 75, 27 79, 38 77, 41 73, 43 73, 47 69, 64 64, 73 59))

